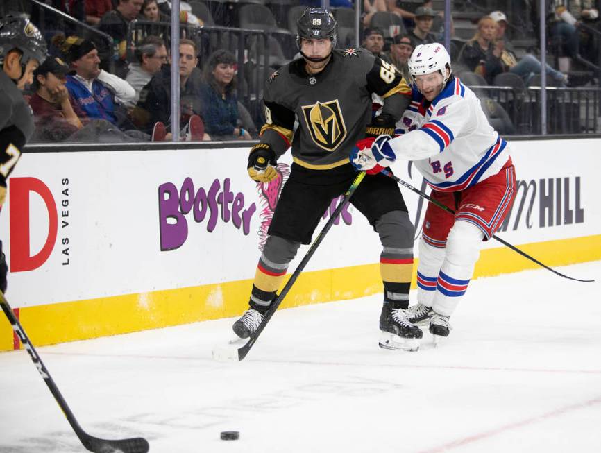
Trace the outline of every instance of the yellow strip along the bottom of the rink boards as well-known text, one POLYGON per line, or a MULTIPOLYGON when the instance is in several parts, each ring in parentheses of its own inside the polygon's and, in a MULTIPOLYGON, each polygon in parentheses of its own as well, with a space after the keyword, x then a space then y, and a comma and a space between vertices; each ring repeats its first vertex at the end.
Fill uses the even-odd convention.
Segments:
MULTIPOLYGON (((596 261, 601 260, 601 234, 524 244, 519 248, 548 266, 596 261)), ((509 248, 491 248, 480 253, 473 278, 536 268, 540 267, 509 248)), ((253 280, 239 280, 23 307, 21 320, 32 343, 41 346, 227 318, 238 316, 246 309, 252 284, 253 280)), ((415 287, 415 273, 412 287, 415 287)), ((380 291, 379 263, 305 272, 282 302, 282 308, 359 298, 380 291)), ((15 305, 15 301, 12 304, 15 305)), ((12 327, 6 316, 1 318, 0 351, 12 350, 12 327)))

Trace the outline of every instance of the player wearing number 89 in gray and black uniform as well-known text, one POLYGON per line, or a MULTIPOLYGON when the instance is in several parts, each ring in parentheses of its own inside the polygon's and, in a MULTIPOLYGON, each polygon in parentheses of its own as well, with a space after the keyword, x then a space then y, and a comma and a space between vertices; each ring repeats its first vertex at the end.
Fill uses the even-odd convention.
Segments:
MULTIPOLYGON (((266 82, 266 123, 248 157, 248 174, 258 182, 276 178, 278 157, 290 147, 294 163, 259 259, 250 307, 233 326, 241 338, 257 330, 299 246, 310 243, 332 199, 355 179, 348 160, 355 142, 366 134, 392 133, 410 101, 411 89, 392 65, 365 49, 335 49, 337 24, 328 9, 307 8, 297 25, 302 58, 266 82), (373 121, 372 93, 384 99, 382 114, 373 121)), ((390 178, 366 176, 350 203, 366 216, 382 243, 380 345, 416 350, 422 332, 403 312, 409 303, 414 239, 403 196, 390 178)))

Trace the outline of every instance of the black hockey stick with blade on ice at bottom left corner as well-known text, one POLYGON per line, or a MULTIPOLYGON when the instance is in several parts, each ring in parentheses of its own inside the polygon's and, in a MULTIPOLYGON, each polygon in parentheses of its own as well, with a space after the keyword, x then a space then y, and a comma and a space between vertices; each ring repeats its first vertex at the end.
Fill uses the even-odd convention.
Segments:
POLYGON ((65 398, 62 398, 62 395, 54 383, 48 368, 46 368, 44 362, 42 362, 42 359, 40 359, 40 356, 37 354, 37 351, 31 344, 31 341, 29 341, 29 337, 25 333, 25 330, 23 329, 21 323, 19 323, 19 320, 15 314, 12 312, 12 309, 10 308, 10 305, 8 305, 6 298, 4 298, 2 291, 0 291, 0 305, 2 306, 4 314, 6 314, 6 317, 12 325, 12 330, 14 330, 19 336, 19 340, 21 340, 21 343, 23 343, 25 346, 29 356, 31 357, 31 360, 33 360, 33 364, 35 364, 35 368, 37 368, 37 371, 44 379, 44 382, 46 382, 46 385, 58 403, 60 410, 65 414, 65 417, 75 431, 75 434, 77 434, 77 437, 83 446, 87 448, 87 450, 95 453, 146 453, 149 451, 149 443, 146 441, 146 439, 141 437, 121 439, 118 441, 108 441, 87 434, 77 422, 73 412, 71 412, 71 409, 69 409, 65 398))

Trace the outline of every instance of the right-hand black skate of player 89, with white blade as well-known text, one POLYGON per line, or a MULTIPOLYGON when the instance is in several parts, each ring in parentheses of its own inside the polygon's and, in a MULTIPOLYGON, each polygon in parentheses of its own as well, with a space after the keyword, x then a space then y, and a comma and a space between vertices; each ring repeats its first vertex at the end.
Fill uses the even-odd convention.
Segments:
POLYGON ((403 309, 384 304, 380 315, 380 348, 416 351, 423 336, 421 329, 409 323, 403 309))

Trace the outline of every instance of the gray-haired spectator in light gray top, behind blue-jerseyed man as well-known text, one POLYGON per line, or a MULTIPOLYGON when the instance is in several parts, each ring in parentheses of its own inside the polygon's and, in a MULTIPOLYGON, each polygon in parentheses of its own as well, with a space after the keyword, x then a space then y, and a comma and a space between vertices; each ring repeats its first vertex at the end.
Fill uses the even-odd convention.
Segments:
POLYGON ((128 107, 131 108, 137 104, 142 88, 160 71, 161 66, 167 63, 167 47, 160 37, 146 36, 135 49, 135 55, 137 62, 130 65, 125 79, 135 89, 135 98, 128 103, 128 107))

